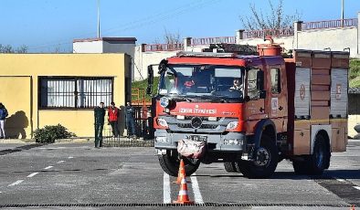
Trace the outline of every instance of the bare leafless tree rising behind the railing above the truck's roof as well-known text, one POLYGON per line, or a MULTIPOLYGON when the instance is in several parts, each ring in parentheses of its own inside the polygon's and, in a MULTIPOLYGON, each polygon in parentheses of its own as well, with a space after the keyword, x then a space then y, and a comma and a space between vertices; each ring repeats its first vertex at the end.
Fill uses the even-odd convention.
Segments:
POLYGON ((294 21, 301 18, 298 12, 295 15, 285 15, 283 10, 283 0, 279 0, 278 5, 274 5, 272 0, 269 0, 270 15, 265 15, 262 10, 258 10, 254 4, 250 4, 250 16, 240 16, 240 20, 248 30, 261 29, 277 29, 283 27, 290 27, 294 21))

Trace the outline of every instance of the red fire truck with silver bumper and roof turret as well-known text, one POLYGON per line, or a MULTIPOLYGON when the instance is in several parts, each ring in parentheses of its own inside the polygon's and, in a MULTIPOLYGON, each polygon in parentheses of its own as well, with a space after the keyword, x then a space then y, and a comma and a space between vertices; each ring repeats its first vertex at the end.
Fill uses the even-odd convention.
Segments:
MULTIPOLYGON (((321 174, 347 144, 349 53, 258 46, 258 55, 181 52, 158 66, 154 147, 165 173, 200 163, 270 177, 291 160, 295 173, 321 174)), ((148 68, 148 93, 154 82, 148 68)))

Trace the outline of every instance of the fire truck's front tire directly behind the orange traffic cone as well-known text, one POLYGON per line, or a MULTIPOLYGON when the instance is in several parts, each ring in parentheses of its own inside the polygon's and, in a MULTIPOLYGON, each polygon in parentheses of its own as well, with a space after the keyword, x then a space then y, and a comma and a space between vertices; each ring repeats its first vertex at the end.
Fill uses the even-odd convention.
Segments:
MULTIPOLYGON (((179 172, 180 160, 178 158, 177 152, 167 151, 166 154, 158 155, 159 163, 165 173, 171 176, 177 176, 179 172)), ((200 161, 196 163, 190 162, 187 158, 184 158, 185 163, 185 173, 186 176, 190 176, 195 173, 200 165, 200 161)))

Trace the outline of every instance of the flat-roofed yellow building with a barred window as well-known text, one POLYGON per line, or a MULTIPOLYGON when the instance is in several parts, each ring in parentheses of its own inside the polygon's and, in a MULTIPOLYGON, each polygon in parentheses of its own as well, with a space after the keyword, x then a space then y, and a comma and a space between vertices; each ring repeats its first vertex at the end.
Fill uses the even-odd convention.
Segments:
POLYGON ((29 139, 58 123, 79 137, 93 136, 95 106, 121 107, 131 99, 131 68, 126 54, 0 54, 6 136, 29 139))

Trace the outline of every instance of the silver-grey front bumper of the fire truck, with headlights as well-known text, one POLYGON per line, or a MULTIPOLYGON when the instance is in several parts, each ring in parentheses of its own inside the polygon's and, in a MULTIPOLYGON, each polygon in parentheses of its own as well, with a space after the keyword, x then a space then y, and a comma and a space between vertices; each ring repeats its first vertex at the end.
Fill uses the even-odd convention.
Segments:
POLYGON ((228 132, 228 134, 198 134, 198 133, 168 133, 165 130, 155 131, 156 149, 174 150, 177 142, 185 139, 185 135, 207 136, 208 150, 213 152, 242 152, 246 148, 246 135, 242 132, 228 132), (162 141, 158 141, 158 140, 162 141), (166 141, 164 141, 166 140, 166 141), (228 144, 228 140, 237 140, 238 144, 228 144))

